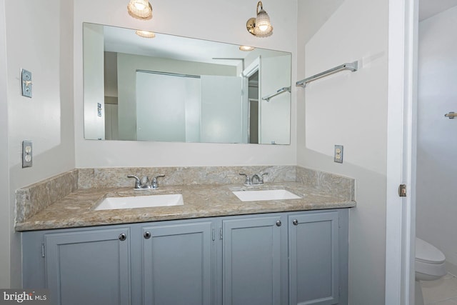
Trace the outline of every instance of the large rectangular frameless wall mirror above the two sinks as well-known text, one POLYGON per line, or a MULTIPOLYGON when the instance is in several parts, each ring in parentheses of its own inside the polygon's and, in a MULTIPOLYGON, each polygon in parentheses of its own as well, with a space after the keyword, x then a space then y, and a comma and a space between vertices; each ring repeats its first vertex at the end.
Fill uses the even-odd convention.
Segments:
POLYGON ((290 53, 83 29, 85 139, 290 144, 290 53))

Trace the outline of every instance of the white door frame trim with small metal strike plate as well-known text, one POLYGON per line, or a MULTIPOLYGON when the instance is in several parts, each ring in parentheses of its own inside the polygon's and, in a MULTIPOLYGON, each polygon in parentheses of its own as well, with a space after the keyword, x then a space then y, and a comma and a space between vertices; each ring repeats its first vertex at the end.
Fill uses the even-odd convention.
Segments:
POLYGON ((414 304, 417 27, 418 0, 389 1, 386 305, 414 304))

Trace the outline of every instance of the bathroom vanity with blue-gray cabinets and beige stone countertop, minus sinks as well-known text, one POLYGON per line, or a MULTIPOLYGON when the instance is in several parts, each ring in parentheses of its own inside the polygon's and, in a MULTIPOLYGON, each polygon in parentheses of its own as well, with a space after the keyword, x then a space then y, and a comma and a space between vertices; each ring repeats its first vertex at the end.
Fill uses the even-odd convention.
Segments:
POLYGON ((291 181, 257 189, 280 186, 300 198, 241 201, 238 184, 162 186, 153 194, 179 193, 184 204, 95 211, 108 195, 139 192, 77 189, 16 225, 23 286, 65 305, 347 304, 355 201, 291 181))

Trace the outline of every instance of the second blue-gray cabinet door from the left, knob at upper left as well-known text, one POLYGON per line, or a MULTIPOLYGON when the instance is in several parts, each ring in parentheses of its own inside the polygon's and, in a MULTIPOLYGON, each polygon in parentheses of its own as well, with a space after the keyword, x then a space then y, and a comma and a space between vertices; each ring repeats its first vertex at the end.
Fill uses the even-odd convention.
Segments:
POLYGON ((143 304, 211 305, 211 221, 145 226, 143 304))

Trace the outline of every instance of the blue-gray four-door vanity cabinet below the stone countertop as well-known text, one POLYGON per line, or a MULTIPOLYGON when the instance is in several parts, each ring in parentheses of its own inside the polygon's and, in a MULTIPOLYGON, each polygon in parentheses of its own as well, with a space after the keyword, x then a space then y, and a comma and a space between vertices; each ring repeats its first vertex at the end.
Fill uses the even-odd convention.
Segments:
POLYGON ((347 305, 348 209, 28 231, 53 305, 347 305))

